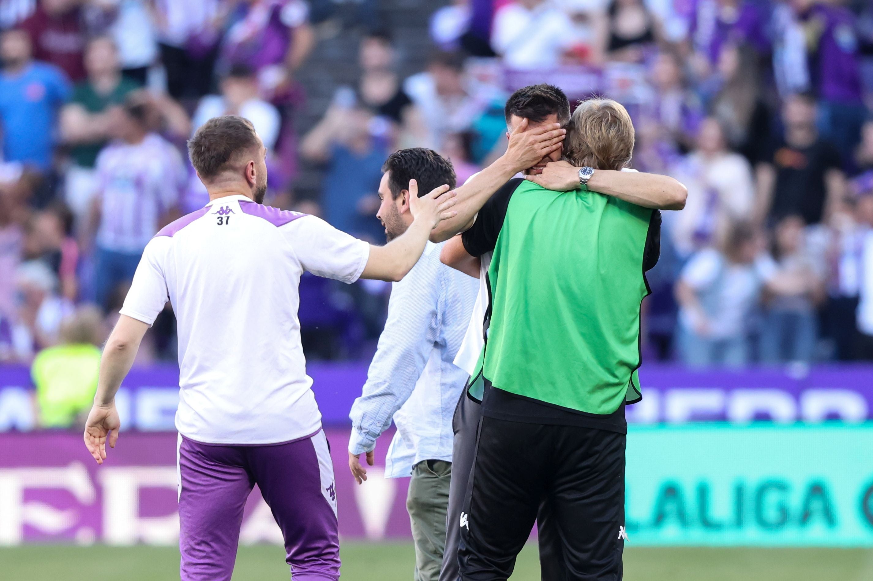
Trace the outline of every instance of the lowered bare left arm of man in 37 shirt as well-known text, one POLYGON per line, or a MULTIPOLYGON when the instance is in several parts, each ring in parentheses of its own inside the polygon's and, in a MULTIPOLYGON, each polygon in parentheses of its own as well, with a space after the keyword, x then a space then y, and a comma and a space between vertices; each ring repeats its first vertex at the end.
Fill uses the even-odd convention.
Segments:
POLYGON ((122 314, 103 348, 97 394, 94 395, 94 405, 85 422, 85 445, 98 464, 106 460, 107 439, 110 448, 114 448, 118 441, 121 422, 115 409, 115 394, 134 364, 142 336, 148 327, 148 323, 122 314))

